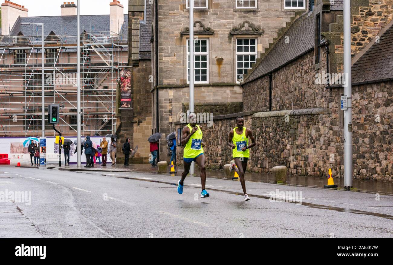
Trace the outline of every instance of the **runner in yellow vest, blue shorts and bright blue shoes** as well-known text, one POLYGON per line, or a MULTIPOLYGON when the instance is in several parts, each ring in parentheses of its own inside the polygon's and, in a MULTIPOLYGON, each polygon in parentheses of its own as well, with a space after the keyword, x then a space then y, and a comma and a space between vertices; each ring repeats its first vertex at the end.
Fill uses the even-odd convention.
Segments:
POLYGON ((189 116, 190 123, 184 126, 182 132, 182 146, 184 147, 183 163, 184 171, 182 179, 178 181, 177 191, 179 194, 183 193, 184 180, 187 176, 191 163, 195 161, 200 169, 200 181, 202 184, 201 198, 209 197, 209 193, 205 189, 206 184, 206 170, 205 170, 205 155, 203 154, 204 142, 202 140, 202 130, 199 125, 196 125, 196 115, 191 113, 189 116))

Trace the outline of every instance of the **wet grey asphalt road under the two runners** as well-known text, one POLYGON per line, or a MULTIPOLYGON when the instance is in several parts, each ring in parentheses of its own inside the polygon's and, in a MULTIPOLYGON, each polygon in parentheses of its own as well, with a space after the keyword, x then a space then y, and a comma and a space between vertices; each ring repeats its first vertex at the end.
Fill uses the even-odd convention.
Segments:
POLYGON ((393 196, 246 182, 244 202, 239 181, 208 178, 200 198, 198 177, 182 195, 177 180, 1 167, 0 192, 31 192, 31 203, 0 202, 0 237, 393 237, 393 196), (271 202, 277 189, 301 204, 271 202))

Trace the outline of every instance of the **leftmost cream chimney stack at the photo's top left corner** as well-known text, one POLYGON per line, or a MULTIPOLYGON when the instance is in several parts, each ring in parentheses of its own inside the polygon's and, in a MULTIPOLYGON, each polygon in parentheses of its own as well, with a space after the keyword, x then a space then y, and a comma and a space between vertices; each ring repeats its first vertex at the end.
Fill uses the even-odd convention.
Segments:
POLYGON ((1 4, 1 34, 8 35, 18 17, 28 17, 29 10, 11 1, 1 4))

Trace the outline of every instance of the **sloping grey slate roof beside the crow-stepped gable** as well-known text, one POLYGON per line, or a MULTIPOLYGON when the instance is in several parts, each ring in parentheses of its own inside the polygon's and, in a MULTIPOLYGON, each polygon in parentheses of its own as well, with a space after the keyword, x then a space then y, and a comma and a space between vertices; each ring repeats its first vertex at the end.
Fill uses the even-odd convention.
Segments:
POLYGON ((314 14, 311 12, 305 13, 296 19, 288 30, 281 35, 277 43, 260 61, 253 72, 247 76, 244 83, 264 76, 313 49, 314 25, 314 14), (285 39, 287 39, 285 36, 289 37, 289 43, 285 43, 285 39))

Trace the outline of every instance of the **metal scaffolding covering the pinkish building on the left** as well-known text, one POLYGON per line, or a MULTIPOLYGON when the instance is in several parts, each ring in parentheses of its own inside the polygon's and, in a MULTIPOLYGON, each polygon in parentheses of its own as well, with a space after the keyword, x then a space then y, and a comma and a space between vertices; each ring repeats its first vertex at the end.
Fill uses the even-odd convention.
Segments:
MULTIPOLYGON (((94 29, 94 26, 93 26, 94 29)), ((40 136, 42 106, 41 36, 3 36, 0 41, 0 136, 40 136)), ((77 133, 77 35, 51 32, 44 36, 45 113, 50 103, 61 106, 58 130, 77 133)), ((128 61, 127 35, 94 32, 82 26, 81 124, 83 135, 116 131, 116 91, 128 61)), ((52 130, 45 117, 45 129, 52 130)), ((53 132, 55 135, 55 132, 53 132)), ((51 131, 46 132, 51 136, 51 131)))

